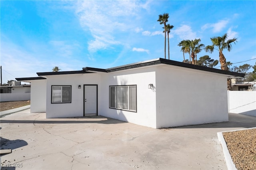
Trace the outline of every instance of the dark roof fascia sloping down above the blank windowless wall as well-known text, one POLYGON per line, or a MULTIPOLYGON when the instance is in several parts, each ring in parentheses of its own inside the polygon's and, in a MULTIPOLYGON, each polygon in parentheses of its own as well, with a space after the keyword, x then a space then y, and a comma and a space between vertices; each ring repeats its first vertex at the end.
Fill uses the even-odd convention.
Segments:
POLYGON ((233 76, 238 76, 238 77, 244 77, 244 75, 245 75, 244 73, 237 73, 237 72, 225 71, 225 70, 221 70, 221 69, 214 69, 214 68, 210 68, 210 67, 204 67, 201 65, 183 63, 183 62, 173 61, 173 60, 163 59, 163 58, 160 58, 160 61, 162 64, 175 65, 175 66, 186 67, 186 68, 190 68, 190 69, 209 71, 209 72, 213 72, 213 73, 233 75, 233 76))

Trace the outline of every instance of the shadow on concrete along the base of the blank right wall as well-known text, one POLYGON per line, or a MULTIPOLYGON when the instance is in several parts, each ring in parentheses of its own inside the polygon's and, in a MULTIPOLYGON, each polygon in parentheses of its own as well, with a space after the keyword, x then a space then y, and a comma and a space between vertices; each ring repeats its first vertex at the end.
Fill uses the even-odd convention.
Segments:
POLYGON ((228 113, 228 122, 208 123, 202 125, 189 125, 175 128, 253 128, 256 127, 256 117, 248 115, 240 115, 235 113, 228 113))

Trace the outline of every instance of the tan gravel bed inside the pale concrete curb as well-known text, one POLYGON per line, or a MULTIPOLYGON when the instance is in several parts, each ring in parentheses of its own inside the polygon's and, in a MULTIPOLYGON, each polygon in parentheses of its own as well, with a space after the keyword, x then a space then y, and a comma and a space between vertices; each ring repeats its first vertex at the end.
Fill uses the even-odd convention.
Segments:
POLYGON ((222 134, 236 168, 256 170, 256 128, 222 134))

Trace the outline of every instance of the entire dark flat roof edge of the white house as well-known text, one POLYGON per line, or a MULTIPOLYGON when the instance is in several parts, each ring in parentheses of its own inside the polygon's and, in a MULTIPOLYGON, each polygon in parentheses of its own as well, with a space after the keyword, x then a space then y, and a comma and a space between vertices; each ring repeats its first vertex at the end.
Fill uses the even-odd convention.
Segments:
MULTIPOLYGON (((38 76, 46 76, 46 75, 65 75, 65 74, 95 73, 95 72, 110 73, 110 72, 114 72, 114 71, 121 71, 121 70, 126 70, 126 69, 134 69, 134 68, 146 67, 146 66, 158 65, 158 64, 174 65, 174 66, 178 66, 178 67, 197 69, 197 70, 208 71, 208 72, 212 72, 212 73, 220 73, 220 74, 228 75, 228 77, 244 77, 244 75, 245 75, 244 73, 236 73, 236 72, 232 72, 232 71, 224 71, 224 70, 220 70, 220 69, 214 69, 214 68, 204 67, 204 66, 200 66, 200 65, 193 65, 193 64, 189 64, 189 63, 183 63, 183 62, 173 61, 173 60, 163 59, 163 58, 157 58, 157 59, 152 59, 152 60, 147 60, 147 61, 140 61, 140 62, 137 62, 137 63, 121 65, 121 66, 118 66, 118 67, 112 67, 112 68, 108 68, 108 69, 100 69, 100 68, 93 68, 93 67, 83 67, 83 69, 80 70, 80 71, 41 72, 41 73, 37 73, 37 75, 38 76)), ((35 78, 35 77, 30 77, 30 78, 35 78)), ((16 80, 24 81, 25 78, 16 78, 16 80)))

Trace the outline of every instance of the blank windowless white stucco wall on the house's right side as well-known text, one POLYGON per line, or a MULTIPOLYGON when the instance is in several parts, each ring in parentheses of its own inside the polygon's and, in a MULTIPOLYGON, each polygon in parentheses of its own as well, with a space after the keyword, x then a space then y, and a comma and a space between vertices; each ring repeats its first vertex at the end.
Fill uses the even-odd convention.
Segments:
POLYGON ((228 121, 224 75, 160 66, 156 92, 156 128, 228 121))

